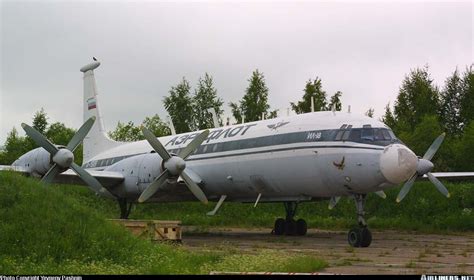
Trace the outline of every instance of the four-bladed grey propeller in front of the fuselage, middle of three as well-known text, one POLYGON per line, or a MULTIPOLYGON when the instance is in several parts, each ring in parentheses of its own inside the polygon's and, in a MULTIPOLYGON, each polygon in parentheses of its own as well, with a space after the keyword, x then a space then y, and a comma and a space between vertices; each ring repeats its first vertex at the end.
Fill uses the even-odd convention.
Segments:
POLYGON ((188 158, 209 136, 209 130, 204 130, 191 141, 177 156, 170 155, 160 141, 144 126, 141 127, 145 139, 155 152, 163 159, 163 172, 158 176, 140 195, 138 202, 145 202, 152 197, 168 178, 181 176, 188 189, 202 203, 207 204, 207 198, 199 186, 184 171, 186 168, 185 159, 188 158))

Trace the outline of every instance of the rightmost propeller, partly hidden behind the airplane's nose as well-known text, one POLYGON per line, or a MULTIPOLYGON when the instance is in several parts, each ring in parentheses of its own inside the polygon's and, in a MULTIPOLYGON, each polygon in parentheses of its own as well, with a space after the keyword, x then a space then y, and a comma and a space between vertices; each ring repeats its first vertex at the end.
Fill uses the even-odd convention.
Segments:
POLYGON ((438 189, 438 191, 440 193, 442 193, 444 196, 449 198, 450 195, 449 195, 448 189, 446 189, 446 187, 433 174, 430 173, 431 170, 434 167, 434 164, 431 162, 431 159, 433 158, 433 156, 438 151, 439 147, 441 146, 441 143, 443 143, 443 140, 444 140, 445 136, 446 136, 446 133, 443 133, 440 136, 438 136, 433 141, 433 143, 428 148, 428 150, 423 155, 423 157, 418 159, 418 165, 416 167, 416 172, 403 185, 403 188, 398 193, 397 202, 402 201, 403 198, 408 194, 408 192, 413 187, 413 184, 415 183, 415 180, 419 177, 422 177, 425 174, 428 176, 428 179, 430 180, 430 182, 433 183, 433 185, 435 185, 435 187, 438 189))

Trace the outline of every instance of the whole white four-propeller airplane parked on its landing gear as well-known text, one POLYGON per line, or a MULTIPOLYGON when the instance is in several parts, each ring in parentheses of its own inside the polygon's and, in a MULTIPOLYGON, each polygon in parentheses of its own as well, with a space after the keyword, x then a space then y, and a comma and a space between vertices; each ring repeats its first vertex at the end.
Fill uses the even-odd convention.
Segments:
POLYGON ((305 235, 307 223, 295 221, 301 202, 329 200, 334 208, 342 196, 352 197, 358 225, 348 233, 353 247, 368 247, 372 233, 364 219, 368 193, 405 182, 400 202, 417 178, 428 178, 449 197, 437 179, 471 179, 474 172, 431 173, 432 157, 445 134, 417 157, 384 123, 350 112, 313 112, 157 138, 146 128, 146 140, 117 142, 104 129, 94 59, 80 69, 84 78, 84 124, 66 146, 54 145, 27 124, 26 134, 40 147, 11 166, 46 183, 86 184, 98 195, 114 199, 120 218, 128 218, 133 203, 224 201, 283 203, 275 235, 305 235), (83 165, 73 151, 83 143, 83 165))

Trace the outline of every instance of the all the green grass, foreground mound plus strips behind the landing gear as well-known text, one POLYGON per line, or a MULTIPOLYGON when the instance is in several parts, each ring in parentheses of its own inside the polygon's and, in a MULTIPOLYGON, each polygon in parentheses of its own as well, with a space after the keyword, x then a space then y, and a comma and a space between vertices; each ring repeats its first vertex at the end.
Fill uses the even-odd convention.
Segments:
MULTIPOLYGON (((369 195, 366 218, 375 229, 417 232, 474 230, 474 184, 446 184, 451 198, 441 196, 429 182, 417 182, 402 203, 399 188, 387 199, 369 195)), ((302 203, 298 217, 308 227, 347 230, 356 223, 354 202, 341 199, 335 209, 327 201, 302 203)), ((284 216, 281 203, 224 203, 214 217, 206 212, 215 203, 157 203, 136 205, 131 219, 181 220, 201 234, 209 227, 271 228, 284 216)), ((317 271, 327 263, 307 255, 277 250, 243 254, 190 252, 179 246, 152 244, 136 238, 106 219, 117 218, 114 201, 95 196, 83 186, 44 186, 35 179, 0 172, 0 271, 5 274, 207 274, 210 271, 317 271)), ((186 235, 187 233, 184 233, 186 235)), ((276 243, 287 243, 282 237, 276 243)), ((296 245, 296 244, 295 244, 296 245)), ((230 246, 232 247, 232 246, 230 246)), ((354 252, 348 247, 347 252, 354 252)), ((425 254, 430 254, 427 249, 425 254)), ((466 253, 467 255, 467 253, 466 253)), ((350 261, 343 265, 350 265, 350 261)), ((407 264, 411 265, 411 264, 407 264)))

